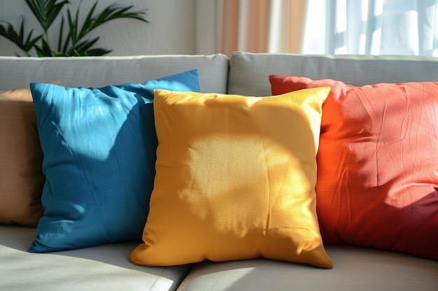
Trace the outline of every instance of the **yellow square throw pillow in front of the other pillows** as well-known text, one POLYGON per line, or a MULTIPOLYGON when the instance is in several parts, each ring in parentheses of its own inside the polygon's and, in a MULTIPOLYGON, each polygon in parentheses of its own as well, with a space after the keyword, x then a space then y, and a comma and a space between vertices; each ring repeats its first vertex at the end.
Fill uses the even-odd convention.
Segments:
POLYGON ((145 266, 269 258, 332 268, 316 216, 329 87, 249 97, 156 90, 145 266))

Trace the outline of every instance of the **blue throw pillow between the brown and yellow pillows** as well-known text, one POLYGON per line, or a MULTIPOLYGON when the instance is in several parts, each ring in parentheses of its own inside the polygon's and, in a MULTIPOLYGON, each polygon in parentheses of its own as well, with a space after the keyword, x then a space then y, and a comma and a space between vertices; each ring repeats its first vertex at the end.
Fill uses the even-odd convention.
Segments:
POLYGON ((197 70, 102 88, 31 84, 46 180, 29 252, 141 239, 155 177, 154 89, 199 91, 197 70))

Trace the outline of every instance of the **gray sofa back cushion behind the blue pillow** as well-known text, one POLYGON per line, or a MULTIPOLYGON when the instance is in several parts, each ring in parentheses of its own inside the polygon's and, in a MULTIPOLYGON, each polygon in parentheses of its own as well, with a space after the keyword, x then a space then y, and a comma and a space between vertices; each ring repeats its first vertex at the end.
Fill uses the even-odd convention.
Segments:
POLYGON ((228 58, 210 56, 136 56, 80 58, 0 57, 0 91, 30 82, 61 80, 64 87, 102 87, 142 83, 166 75, 197 69, 203 92, 225 93, 228 58))

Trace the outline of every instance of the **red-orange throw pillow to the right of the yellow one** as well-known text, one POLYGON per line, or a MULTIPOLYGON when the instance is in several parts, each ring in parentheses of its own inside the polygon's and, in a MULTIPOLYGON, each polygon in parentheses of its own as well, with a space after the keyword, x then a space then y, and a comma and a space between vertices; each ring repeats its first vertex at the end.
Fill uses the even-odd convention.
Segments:
POLYGON ((330 86, 318 151, 327 244, 438 260, 438 82, 355 87, 271 75, 272 94, 330 86))

